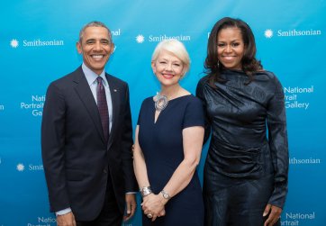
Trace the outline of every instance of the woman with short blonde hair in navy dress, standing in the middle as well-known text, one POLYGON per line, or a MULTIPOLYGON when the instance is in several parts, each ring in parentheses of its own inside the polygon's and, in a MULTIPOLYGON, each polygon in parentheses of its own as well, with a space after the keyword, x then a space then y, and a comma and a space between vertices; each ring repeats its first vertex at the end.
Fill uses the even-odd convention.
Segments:
POLYGON ((151 67, 161 89, 141 104, 133 150, 142 225, 204 225, 196 172, 204 140, 203 104, 179 85, 189 68, 180 41, 158 43, 151 67))

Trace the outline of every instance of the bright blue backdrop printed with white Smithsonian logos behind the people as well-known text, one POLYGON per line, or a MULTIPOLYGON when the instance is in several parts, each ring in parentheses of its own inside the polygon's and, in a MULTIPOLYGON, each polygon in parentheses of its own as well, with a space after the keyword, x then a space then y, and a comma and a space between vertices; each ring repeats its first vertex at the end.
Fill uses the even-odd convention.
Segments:
MULTIPOLYGON (((133 126, 155 95, 150 68, 158 41, 183 41, 192 59, 182 85, 204 76, 209 32, 223 16, 251 26, 258 59, 285 90, 290 172, 282 225, 326 225, 325 0, 3 1, 0 7, 0 226, 52 226, 40 127, 50 81, 77 68, 76 41, 90 21, 106 23, 116 49, 106 71, 131 89, 133 126)), ((203 178, 204 147, 200 177, 203 178)), ((87 170, 87 169, 86 169, 87 170)), ((140 197, 138 196, 140 202, 140 197)), ((140 207, 128 226, 140 226, 140 207)))

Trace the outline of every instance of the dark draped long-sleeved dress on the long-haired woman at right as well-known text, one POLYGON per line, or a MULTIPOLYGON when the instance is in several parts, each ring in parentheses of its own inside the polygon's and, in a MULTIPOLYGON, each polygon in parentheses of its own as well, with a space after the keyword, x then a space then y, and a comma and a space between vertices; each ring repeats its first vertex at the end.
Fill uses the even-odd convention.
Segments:
POLYGON ((205 225, 263 225, 267 203, 283 208, 287 194, 288 148, 284 93, 276 76, 254 80, 225 70, 225 82, 197 86, 212 130, 204 166, 205 225), (248 84, 248 85, 246 85, 248 84))

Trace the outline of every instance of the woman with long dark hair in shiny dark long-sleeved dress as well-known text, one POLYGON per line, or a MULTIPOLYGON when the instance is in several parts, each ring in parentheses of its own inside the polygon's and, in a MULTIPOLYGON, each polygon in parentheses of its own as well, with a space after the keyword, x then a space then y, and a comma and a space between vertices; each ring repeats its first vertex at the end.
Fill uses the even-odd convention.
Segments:
POLYGON ((229 17, 210 34, 205 109, 205 225, 276 225, 285 204, 288 149, 283 88, 255 58, 247 23, 229 17))

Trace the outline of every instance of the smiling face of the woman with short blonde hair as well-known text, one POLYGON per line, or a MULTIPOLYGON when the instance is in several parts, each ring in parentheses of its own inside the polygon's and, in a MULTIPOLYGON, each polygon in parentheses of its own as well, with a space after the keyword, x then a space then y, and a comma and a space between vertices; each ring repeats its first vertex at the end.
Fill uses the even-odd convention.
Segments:
POLYGON ((160 51, 158 58, 151 62, 151 68, 162 86, 178 84, 185 74, 184 63, 167 50, 160 51))

